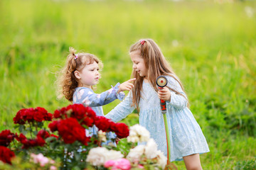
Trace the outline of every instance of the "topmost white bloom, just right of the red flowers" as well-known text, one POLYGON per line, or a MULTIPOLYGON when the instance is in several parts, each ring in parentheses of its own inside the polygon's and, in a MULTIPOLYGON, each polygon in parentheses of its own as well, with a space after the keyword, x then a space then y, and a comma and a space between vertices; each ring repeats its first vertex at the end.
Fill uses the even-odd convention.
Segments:
POLYGON ((133 125, 129 130, 128 142, 147 142, 149 140, 150 133, 142 125, 133 125))

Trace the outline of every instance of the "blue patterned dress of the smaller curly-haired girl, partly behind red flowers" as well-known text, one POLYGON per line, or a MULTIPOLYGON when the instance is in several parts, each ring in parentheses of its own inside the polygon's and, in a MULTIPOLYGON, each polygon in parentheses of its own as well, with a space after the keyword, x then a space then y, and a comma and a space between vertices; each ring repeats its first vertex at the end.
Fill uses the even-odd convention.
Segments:
MULTIPOLYGON (((119 99, 122 101, 124 99, 124 92, 120 92, 117 94, 119 90, 119 83, 117 83, 112 89, 102 92, 101 94, 95 94, 92 89, 87 87, 78 87, 75 88, 75 92, 73 94, 73 104, 82 103, 84 106, 89 106, 95 111, 96 115, 104 116, 102 106, 114 101, 115 99, 119 99)), ((98 128, 94 125, 92 128, 88 130, 89 136, 97 135, 98 128)), ((112 132, 107 133, 107 137, 109 139, 114 139, 117 135, 112 132)), ((112 142, 112 140, 107 140, 106 143, 102 143, 102 145, 107 145, 112 142)), ((114 143, 115 145, 115 143, 114 143)))

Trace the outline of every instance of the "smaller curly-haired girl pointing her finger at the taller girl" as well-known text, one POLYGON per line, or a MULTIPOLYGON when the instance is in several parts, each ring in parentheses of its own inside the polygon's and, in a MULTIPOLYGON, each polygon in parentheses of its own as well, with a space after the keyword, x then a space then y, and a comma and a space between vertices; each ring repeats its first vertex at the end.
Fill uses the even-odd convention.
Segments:
MULTIPOLYGON (((102 62, 89 53, 75 54, 75 49, 70 47, 70 54, 67 57, 65 67, 60 77, 60 86, 62 94, 68 101, 73 103, 82 103, 84 106, 90 106, 96 115, 104 116, 102 106, 114 101, 122 100, 125 96, 123 91, 129 91, 134 86, 130 79, 122 84, 117 83, 112 89, 95 94, 92 86, 96 85, 100 79, 100 68, 102 62)), ((93 126, 87 135, 97 135, 97 128, 93 126)), ((115 136, 109 132, 108 137, 114 139, 115 136)), ((107 144, 112 140, 107 141, 107 144)), ((114 143, 113 143, 114 144, 114 143)), ((104 144, 102 144, 104 145, 104 144)), ((115 144, 114 144, 115 145, 115 144)))

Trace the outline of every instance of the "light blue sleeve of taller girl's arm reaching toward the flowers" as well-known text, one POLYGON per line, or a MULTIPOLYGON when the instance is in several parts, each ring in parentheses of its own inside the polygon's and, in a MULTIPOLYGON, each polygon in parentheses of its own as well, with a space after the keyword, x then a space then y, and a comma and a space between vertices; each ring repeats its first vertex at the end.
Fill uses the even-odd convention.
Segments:
POLYGON ((119 120, 122 120, 123 118, 126 118, 127 115, 132 113, 134 111, 135 107, 132 107, 132 97, 131 92, 127 95, 126 98, 124 98, 124 101, 119 103, 110 113, 107 113, 105 115, 106 118, 111 119, 113 122, 118 122, 119 120))

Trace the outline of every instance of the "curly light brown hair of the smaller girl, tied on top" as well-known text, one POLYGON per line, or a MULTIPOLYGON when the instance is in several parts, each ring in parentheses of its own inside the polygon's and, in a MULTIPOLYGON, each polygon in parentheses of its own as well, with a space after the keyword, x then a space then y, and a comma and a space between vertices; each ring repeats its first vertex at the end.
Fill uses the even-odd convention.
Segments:
POLYGON ((75 77, 75 70, 82 70, 86 64, 92 64, 97 62, 100 69, 103 67, 102 62, 90 53, 80 52, 75 54, 76 50, 73 47, 69 48, 70 54, 67 57, 65 67, 60 71, 60 76, 58 77, 58 86, 60 86, 60 91, 58 98, 65 96, 68 101, 73 101, 73 94, 75 88, 78 87, 79 80, 75 77))

